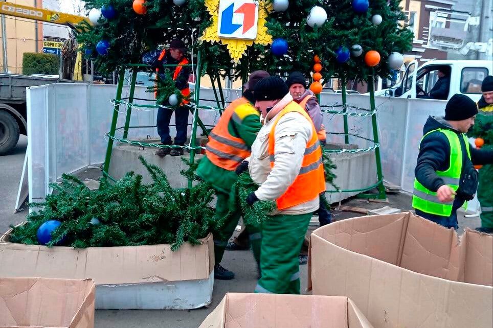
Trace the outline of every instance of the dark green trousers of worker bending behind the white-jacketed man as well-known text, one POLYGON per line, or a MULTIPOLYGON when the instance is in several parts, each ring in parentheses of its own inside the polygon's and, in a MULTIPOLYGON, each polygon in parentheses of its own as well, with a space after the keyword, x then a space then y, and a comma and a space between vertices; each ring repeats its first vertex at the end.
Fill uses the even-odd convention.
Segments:
MULTIPOLYGON (((241 217, 241 209, 237 208, 234 212, 230 212, 229 195, 217 191, 217 203, 216 212, 214 214, 215 222, 219 222, 222 218, 225 218, 224 224, 215 228, 212 232, 214 237, 214 264, 221 263, 222 256, 228 244, 228 240, 233 235, 238 221, 241 217), (229 214, 229 215, 228 215, 229 214)), ((243 220, 245 221, 245 220, 243 220)), ((260 261, 260 243, 262 241, 262 235, 260 233, 260 226, 246 224, 247 230, 250 235, 250 244, 252 246, 253 256, 255 261, 260 261)))

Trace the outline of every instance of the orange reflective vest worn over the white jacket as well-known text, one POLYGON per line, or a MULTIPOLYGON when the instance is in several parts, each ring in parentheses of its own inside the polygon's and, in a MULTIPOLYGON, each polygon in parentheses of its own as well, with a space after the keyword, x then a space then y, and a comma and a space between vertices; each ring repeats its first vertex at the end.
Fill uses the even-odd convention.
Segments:
POLYGON ((312 127, 311 139, 306 144, 303 162, 300 172, 293 184, 289 186, 284 194, 279 197, 277 202, 278 209, 293 207, 304 202, 317 198, 321 192, 325 191, 324 166, 322 162, 322 148, 317 137, 317 131, 310 116, 296 102, 290 102, 279 114, 274 121, 273 128, 269 134, 268 154, 271 160, 271 169, 275 166, 275 130, 279 120, 287 113, 298 112, 302 114, 312 127))

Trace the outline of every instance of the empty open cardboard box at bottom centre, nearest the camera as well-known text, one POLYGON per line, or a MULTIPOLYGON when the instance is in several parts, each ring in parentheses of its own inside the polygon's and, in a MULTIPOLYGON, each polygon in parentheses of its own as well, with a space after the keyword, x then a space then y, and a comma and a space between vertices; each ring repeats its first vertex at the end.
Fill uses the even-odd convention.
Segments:
POLYGON ((227 293, 199 328, 370 328, 347 297, 227 293))

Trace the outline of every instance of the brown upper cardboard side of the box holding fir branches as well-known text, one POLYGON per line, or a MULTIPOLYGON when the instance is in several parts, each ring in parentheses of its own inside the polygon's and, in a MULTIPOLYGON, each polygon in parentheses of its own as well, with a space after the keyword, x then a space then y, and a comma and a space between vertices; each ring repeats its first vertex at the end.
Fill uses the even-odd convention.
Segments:
POLYGON ((214 267, 212 235, 200 242, 185 243, 175 252, 168 244, 74 249, 3 242, 0 276, 92 278, 97 285, 209 279, 214 267))

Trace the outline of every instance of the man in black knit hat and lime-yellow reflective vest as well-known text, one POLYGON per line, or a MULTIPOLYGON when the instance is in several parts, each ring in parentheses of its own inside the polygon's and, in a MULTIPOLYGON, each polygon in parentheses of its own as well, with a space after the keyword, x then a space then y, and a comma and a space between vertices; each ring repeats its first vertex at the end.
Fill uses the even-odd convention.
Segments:
POLYGON ((470 146, 465 135, 477 113, 473 100, 457 94, 447 102, 444 117, 429 116, 423 127, 413 207, 417 215, 447 228, 458 228, 457 209, 476 193, 474 165, 493 163, 493 151, 470 146))

